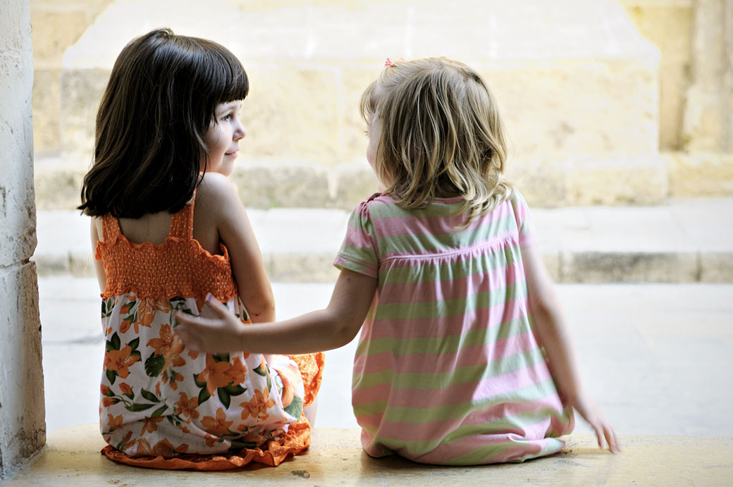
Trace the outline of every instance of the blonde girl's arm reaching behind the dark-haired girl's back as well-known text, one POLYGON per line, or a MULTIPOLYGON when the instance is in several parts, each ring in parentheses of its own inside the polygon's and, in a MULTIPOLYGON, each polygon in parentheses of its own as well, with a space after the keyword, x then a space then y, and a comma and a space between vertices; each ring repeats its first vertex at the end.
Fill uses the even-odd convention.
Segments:
POLYGON ((309 354, 349 343, 364 323, 377 279, 344 269, 325 310, 278 323, 242 326, 239 319, 209 298, 210 318, 177 313, 174 330, 186 345, 208 353, 309 354))

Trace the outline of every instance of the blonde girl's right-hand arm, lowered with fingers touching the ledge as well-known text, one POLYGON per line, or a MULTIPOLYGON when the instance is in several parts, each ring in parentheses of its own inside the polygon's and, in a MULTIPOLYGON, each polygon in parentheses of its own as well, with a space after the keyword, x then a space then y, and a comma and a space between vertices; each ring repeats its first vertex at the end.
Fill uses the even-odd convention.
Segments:
POLYGON ((605 420, 603 413, 586 397, 578 376, 578 366, 564 325, 564 318, 553 291, 553 283, 534 246, 522 247, 522 260, 527 277, 529 304, 534 317, 534 332, 539 344, 545 347, 550 371, 559 388, 561 398, 570 404, 594 429, 598 446, 603 440, 612 453, 620 450, 616 432, 605 420))

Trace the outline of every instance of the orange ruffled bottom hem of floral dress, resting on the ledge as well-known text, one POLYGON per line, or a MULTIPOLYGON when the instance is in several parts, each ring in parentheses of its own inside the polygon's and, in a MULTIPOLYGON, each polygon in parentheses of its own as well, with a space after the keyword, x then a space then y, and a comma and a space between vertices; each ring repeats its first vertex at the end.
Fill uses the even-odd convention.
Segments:
POLYGON ((298 422, 292 423, 287 433, 278 439, 270 440, 262 448, 243 448, 235 453, 217 453, 214 455, 200 455, 196 453, 181 453, 174 458, 163 456, 141 455, 131 457, 111 446, 101 450, 111 461, 131 466, 141 466, 147 469, 163 470, 231 470, 238 469, 251 462, 268 466, 278 466, 290 455, 299 455, 311 445, 311 425, 305 416, 298 422))

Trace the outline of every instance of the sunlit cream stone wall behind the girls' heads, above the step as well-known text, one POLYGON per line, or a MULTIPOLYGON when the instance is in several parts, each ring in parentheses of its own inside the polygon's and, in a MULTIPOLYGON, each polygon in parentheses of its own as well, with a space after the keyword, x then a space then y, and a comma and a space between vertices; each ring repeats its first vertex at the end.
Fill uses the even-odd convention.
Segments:
POLYGON ((40 208, 78 203, 114 57, 161 25, 245 62, 235 180, 250 206, 350 208, 372 191, 356 103, 386 56, 444 54, 482 71, 509 125, 509 177, 534 205, 654 204, 733 186, 733 0, 31 3, 36 76, 48 79, 34 87, 40 208), (699 166, 701 153, 712 164, 699 166), (674 179, 695 167, 705 170, 674 179))

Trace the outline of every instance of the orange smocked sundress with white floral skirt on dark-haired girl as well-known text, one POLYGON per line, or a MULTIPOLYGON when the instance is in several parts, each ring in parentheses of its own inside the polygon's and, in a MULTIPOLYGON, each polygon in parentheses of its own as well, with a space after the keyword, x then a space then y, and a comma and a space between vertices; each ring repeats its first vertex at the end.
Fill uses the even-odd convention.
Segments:
POLYGON ((229 255, 193 238, 194 199, 172 215, 160 245, 133 244, 102 217, 102 326, 106 337, 100 430, 114 461, 161 469, 277 466, 309 447, 303 406, 320 387, 323 354, 199 354, 173 329, 173 312, 199 315, 212 293, 251 323, 229 255))

